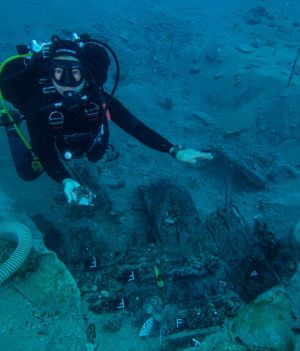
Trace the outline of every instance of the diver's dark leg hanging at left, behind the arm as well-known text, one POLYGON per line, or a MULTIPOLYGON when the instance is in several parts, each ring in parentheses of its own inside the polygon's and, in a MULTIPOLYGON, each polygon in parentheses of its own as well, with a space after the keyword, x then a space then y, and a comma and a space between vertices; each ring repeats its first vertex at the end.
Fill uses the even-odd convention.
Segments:
POLYGON ((37 179, 41 173, 33 170, 32 155, 13 127, 6 128, 11 155, 20 178, 25 181, 37 179))

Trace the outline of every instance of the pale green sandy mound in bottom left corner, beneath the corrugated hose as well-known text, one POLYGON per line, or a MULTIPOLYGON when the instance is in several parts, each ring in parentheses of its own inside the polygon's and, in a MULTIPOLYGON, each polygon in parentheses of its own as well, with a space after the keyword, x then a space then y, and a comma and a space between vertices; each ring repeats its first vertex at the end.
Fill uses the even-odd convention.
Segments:
MULTIPOLYGON (((71 273, 45 247, 42 233, 30 218, 14 211, 6 200, 4 204, 0 201, 1 221, 26 225, 33 246, 19 270, 1 285, 0 350, 83 351, 85 323, 71 273)), ((0 264, 15 246, 9 237, 0 240, 0 264)))

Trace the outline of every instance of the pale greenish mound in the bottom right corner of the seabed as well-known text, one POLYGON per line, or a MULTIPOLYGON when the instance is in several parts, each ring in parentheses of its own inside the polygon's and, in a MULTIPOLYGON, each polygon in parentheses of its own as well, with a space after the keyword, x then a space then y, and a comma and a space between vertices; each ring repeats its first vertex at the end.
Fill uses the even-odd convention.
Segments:
POLYGON ((293 332, 294 307, 287 290, 277 286, 245 305, 218 333, 207 336, 201 349, 210 351, 299 351, 293 332))

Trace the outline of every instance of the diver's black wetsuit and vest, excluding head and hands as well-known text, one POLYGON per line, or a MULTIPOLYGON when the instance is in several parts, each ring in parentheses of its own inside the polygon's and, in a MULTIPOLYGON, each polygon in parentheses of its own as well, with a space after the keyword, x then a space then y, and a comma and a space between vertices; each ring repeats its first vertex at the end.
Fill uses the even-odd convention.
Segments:
MULTIPOLYGON (((91 162, 99 161, 108 145, 108 120, 103 114, 103 87, 107 79, 110 59, 103 48, 85 47, 88 62, 87 84, 81 91, 87 102, 76 108, 55 108, 63 102, 54 89, 45 62, 20 58, 8 63, 0 77, 3 97, 22 114, 31 115, 27 128, 35 154, 47 174, 62 182, 71 178, 64 166, 63 156, 70 152, 73 157, 86 156, 91 162), (95 113, 99 108, 98 113, 95 113)), ((109 103, 111 120, 124 131, 152 149, 168 152, 172 144, 134 117, 117 99, 109 103)), ((33 171, 31 154, 15 132, 9 132, 9 143, 18 174, 24 180, 37 178, 33 171)))

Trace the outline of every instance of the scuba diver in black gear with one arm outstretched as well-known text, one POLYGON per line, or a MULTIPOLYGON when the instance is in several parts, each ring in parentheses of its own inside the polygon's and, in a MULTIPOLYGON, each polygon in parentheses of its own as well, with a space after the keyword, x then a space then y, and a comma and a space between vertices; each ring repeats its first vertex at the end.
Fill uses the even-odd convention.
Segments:
POLYGON ((70 166, 86 157, 97 162, 109 147, 109 121, 144 145, 177 160, 195 163, 210 153, 173 145, 124 107, 115 97, 120 75, 114 51, 89 35, 69 39, 54 35, 50 42, 18 45, 18 55, 0 66, 0 114, 19 176, 31 181, 46 172, 62 184, 68 203, 90 205, 87 190, 70 166), (103 86, 111 63, 116 80, 111 93, 103 86), (12 108, 8 108, 9 102, 12 108), (19 125, 26 120, 30 141, 19 125))

